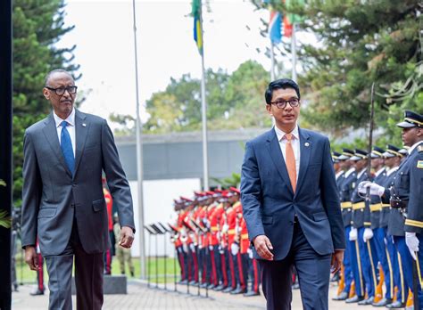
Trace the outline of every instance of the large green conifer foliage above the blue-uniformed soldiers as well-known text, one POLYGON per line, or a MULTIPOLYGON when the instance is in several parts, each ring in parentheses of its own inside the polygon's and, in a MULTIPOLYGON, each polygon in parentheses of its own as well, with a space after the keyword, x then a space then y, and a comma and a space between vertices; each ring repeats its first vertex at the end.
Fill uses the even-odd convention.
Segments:
MULTIPOLYGON (((391 106, 382 95, 411 77, 422 59, 419 1, 311 1, 305 14, 303 29, 314 33, 319 44, 303 45, 300 51, 305 72, 300 84, 311 94, 303 117, 338 136, 367 126, 375 82, 375 120, 384 133, 377 143, 394 139, 401 145, 395 124, 404 109, 421 113, 421 87, 391 106)), ((415 79, 421 86, 421 74, 415 79)))

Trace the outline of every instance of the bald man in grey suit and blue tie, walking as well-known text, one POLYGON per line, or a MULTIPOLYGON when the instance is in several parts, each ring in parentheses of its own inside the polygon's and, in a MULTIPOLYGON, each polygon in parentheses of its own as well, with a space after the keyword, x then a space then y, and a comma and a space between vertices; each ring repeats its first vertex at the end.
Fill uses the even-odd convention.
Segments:
POLYGON ((129 183, 103 118, 73 106, 77 86, 62 69, 48 73, 43 94, 53 111, 24 138, 22 248, 37 270, 37 237, 49 275, 50 309, 71 309, 75 258, 78 309, 103 305, 103 253, 110 247, 102 173, 119 206, 120 246, 134 241, 129 183))

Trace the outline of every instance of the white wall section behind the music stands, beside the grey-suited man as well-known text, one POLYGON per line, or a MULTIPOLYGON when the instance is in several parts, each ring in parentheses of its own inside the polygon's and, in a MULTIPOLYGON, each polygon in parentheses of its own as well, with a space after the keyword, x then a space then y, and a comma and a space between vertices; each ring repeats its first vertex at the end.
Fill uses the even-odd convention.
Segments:
MULTIPOLYGON (((138 196, 137 181, 130 181, 129 186, 134 200, 134 217, 137 231, 135 233, 135 241, 132 247, 132 256, 139 257, 139 222, 138 222, 138 196)), ((194 191, 200 191, 200 179, 174 179, 174 180, 153 180, 144 181, 144 221, 145 224, 153 224, 156 222, 173 223, 176 219, 176 213, 173 210, 173 199, 179 196, 191 198, 194 191)), ((145 231, 145 254, 148 256, 149 249, 149 233, 145 231)), ((151 239, 151 255, 155 255, 155 237, 151 239)), ((169 233, 167 236, 167 255, 173 257, 174 247, 170 242, 169 233)), ((163 236, 158 236, 158 253, 164 254, 163 236)))

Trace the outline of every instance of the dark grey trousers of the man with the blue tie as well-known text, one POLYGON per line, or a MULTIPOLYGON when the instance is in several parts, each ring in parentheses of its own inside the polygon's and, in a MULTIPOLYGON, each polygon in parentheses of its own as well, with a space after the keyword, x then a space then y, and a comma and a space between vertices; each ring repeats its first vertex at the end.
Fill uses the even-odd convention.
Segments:
POLYGON ((103 253, 88 254, 79 241, 76 222, 71 240, 60 255, 45 257, 49 276, 49 309, 72 309, 71 277, 75 257, 77 309, 99 310, 103 306, 103 253))

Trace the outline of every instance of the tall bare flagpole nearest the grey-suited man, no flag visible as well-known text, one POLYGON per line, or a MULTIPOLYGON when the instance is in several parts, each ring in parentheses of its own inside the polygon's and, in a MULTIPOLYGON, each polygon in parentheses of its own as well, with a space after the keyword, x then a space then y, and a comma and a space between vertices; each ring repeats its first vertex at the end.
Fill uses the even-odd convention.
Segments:
POLYGON ((137 20, 135 0, 132 0, 134 21, 134 53, 135 53, 135 90, 137 98, 137 197, 138 197, 138 233, 139 233, 139 261, 141 279, 145 279, 145 235, 144 235, 144 196, 143 196, 143 144, 141 141, 141 119, 139 117, 139 89, 138 89, 138 57, 137 57, 137 20))

